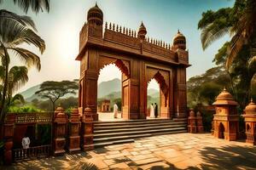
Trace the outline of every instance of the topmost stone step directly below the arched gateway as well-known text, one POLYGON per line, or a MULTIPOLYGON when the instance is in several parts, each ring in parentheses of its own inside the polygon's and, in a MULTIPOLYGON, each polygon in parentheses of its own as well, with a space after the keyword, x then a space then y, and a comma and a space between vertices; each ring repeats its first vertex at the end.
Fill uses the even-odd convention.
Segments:
MULTIPOLYGON (((111 127, 111 126, 137 126, 137 125, 150 125, 150 124, 161 124, 161 123, 179 123, 179 122, 174 122, 172 120, 168 120, 168 121, 157 121, 157 122, 104 122, 104 123, 94 123, 94 127, 111 127)), ((186 122, 183 122, 186 123, 186 122)))

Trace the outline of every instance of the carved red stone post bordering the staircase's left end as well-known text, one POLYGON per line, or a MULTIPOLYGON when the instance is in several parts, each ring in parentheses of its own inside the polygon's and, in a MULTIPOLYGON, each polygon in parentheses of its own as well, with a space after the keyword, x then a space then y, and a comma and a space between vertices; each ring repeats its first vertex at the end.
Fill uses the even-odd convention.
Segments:
POLYGON ((84 150, 93 150, 93 112, 89 107, 84 109, 81 131, 83 138, 81 147, 84 150))

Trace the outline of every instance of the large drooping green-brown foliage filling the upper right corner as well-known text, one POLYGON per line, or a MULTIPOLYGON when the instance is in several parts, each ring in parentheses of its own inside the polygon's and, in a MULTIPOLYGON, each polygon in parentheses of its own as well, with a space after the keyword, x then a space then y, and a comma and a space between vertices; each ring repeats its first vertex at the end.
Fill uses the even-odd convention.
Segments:
POLYGON ((236 58, 245 44, 251 46, 251 56, 255 55, 256 36, 256 1, 236 0, 233 8, 220 8, 202 14, 198 23, 201 29, 202 48, 206 49, 212 42, 230 33, 232 36, 226 59, 226 67, 236 58))

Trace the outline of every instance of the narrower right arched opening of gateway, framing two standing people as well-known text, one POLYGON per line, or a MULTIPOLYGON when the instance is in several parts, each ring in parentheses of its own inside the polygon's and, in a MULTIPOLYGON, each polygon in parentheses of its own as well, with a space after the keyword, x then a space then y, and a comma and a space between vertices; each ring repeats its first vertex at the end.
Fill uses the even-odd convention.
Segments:
POLYGON ((147 118, 160 117, 160 85, 155 79, 148 82, 147 88, 147 118), (155 108, 157 106, 157 109, 155 108), (157 114, 156 111, 157 110, 157 114))

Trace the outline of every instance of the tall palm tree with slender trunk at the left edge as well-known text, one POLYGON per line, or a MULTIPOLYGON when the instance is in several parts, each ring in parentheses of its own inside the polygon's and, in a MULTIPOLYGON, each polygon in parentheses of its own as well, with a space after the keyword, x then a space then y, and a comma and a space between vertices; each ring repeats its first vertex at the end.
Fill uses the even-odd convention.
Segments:
POLYGON ((10 63, 10 52, 15 54, 21 61, 25 62, 28 67, 36 66, 38 71, 41 68, 40 58, 37 54, 33 54, 26 48, 21 48, 21 44, 33 44, 37 47, 41 54, 44 53, 45 43, 44 40, 38 36, 38 34, 31 28, 34 26, 30 18, 26 18, 30 21, 30 25, 20 24, 16 20, 10 20, 9 18, 2 17, 0 20, 0 57, 2 59, 2 65, 4 66, 4 79, 3 79, 3 94, 1 100, 1 117, 0 122, 3 122, 5 116, 5 99, 8 90, 8 79, 9 79, 9 63, 10 63))

